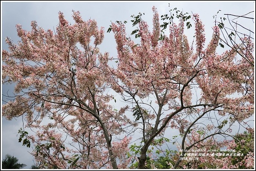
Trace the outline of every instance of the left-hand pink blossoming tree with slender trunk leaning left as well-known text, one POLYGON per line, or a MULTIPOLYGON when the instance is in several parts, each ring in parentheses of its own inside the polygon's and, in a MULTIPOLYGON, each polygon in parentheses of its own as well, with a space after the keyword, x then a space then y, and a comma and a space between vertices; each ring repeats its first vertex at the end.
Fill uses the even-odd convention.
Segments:
POLYGON ((116 111, 109 105, 113 96, 105 93, 109 84, 102 64, 108 53, 98 48, 103 28, 98 30, 94 20, 83 21, 79 12, 73 18, 75 24, 69 25, 59 13, 55 34, 32 21, 31 31, 16 25, 18 45, 6 38, 9 52, 2 51, 2 77, 16 86, 2 115, 9 120, 22 116, 26 127, 36 130, 35 136, 20 130, 20 141, 26 136, 23 144, 30 146, 32 140, 32 155, 43 168, 117 168, 117 159, 119 168, 126 167, 123 156, 130 138, 113 142, 112 136, 130 121, 123 115, 125 108, 116 111))

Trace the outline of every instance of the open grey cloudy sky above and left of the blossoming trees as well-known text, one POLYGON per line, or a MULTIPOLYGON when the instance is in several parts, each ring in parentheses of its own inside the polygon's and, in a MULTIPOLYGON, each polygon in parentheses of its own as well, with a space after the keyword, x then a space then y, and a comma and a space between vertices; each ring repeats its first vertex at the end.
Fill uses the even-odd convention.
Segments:
MULTIPOLYGON (((1 41, 2 49, 7 50, 5 37, 9 37, 16 43, 19 38, 17 36, 16 24, 21 24, 25 30, 31 30, 30 23, 35 20, 38 26, 44 30, 54 28, 58 24, 58 12, 64 13, 65 18, 74 23, 72 18, 72 10, 80 11, 84 20, 95 19, 98 27, 105 28, 105 38, 99 46, 101 52, 108 51, 110 56, 116 56, 116 43, 113 33, 107 33, 107 29, 112 22, 128 21, 126 24, 126 32, 131 33, 134 28, 130 22, 131 15, 137 15, 139 12, 145 13, 143 20, 148 22, 152 28, 153 12, 152 7, 155 6, 159 15, 167 14, 170 9, 177 7, 179 10, 188 13, 198 13, 202 23, 205 25, 206 45, 212 37, 212 26, 214 26, 213 15, 218 10, 222 10, 219 16, 224 13, 235 15, 243 15, 254 11, 255 4, 253 2, 34 2, 34 3, 19 3, 19 2, 1 2, 1 41), (170 8, 168 7, 170 3, 170 8)), ((193 21, 192 21, 193 22, 193 21)), ((243 23, 245 26, 247 23, 243 23)), ((187 36, 191 41, 194 36, 194 30, 187 30, 187 36)), ((2 85, 2 94, 6 95, 7 91, 10 95, 13 92, 14 85, 2 85)), ((3 97, 3 100, 5 98, 3 97)), ((1 100, 2 101, 2 100, 1 100)), ((2 101, 3 104, 5 102, 2 101)), ((14 155, 20 161, 27 165, 25 168, 30 168, 33 164, 33 157, 28 153, 32 149, 22 146, 18 142, 17 132, 22 127, 22 119, 13 119, 7 121, 1 118, 1 159, 5 154, 14 155)))

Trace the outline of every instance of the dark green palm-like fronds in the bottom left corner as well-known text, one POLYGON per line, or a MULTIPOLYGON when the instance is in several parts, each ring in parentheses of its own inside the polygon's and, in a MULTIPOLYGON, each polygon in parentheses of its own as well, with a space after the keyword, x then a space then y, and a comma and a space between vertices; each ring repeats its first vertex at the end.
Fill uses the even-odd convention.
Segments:
POLYGON ((19 159, 9 154, 5 155, 5 159, 2 160, 2 169, 22 169, 25 164, 18 163, 19 159))

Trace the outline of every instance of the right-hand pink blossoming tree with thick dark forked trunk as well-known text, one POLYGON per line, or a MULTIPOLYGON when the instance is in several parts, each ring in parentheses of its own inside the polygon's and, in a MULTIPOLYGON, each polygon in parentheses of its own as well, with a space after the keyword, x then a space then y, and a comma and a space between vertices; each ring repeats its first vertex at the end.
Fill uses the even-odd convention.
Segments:
MULTIPOLYGON (((170 22, 170 34, 160 38, 159 16, 154 7, 153 12, 152 32, 142 20, 142 14, 134 17, 133 25, 139 24, 135 33, 140 45, 126 37, 122 22, 111 26, 119 60, 117 68, 110 71, 120 82, 123 99, 134 105, 135 121, 142 125, 143 145, 137 168, 145 167, 149 146, 156 143, 157 137, 164 136, 167 127, 179 129, 182 135, 182 158, 191 148, 208 150, 220 144, 216 135, 221 135, 227 144, 231 125, 236 121, 242 123, 254 111, 254 66, 251 65, 254 45, 250 38, 242 38, 235 45, 239 50, 231 48, 218 55, 219 27, 213 27, 212 40, 204 48, 204 26, 199 16, 193 14, 196 38, 193 49, 184 35, 184 21, 190 17, 177 15, 180 22, 176 25, 172 13, 171 17, 162 16, 170 22), (250 56, 251 62, 241 54, 250 56), (158 107, 152 105, 153 99, 158 107), (202 124, 202 120, 208 120, 209 124, 202 124), (225 127, 228 122, 229 126, 225 127)), ((166 27, 166 22, 162 26, 166 27)), ((180 162, 177 159, 174 168, 180 162)))

